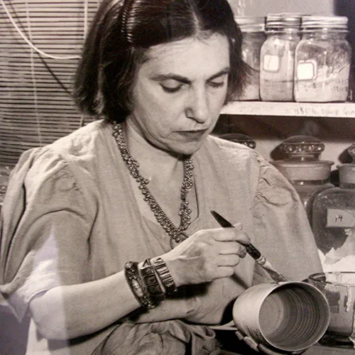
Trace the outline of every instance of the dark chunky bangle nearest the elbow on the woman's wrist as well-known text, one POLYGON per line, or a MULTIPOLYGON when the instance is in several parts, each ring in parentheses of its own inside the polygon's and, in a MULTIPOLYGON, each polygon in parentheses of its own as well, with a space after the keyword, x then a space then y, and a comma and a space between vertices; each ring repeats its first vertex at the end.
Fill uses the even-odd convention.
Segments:
POLYGON ((138 263, 128 261, 124 265, 124 275, 126 276, 129 288, 131 288, 133 295, 142 307, 152 309, 158 305, 158 302, 148 293, 146 285, 141 275, 139 275, 138 263))

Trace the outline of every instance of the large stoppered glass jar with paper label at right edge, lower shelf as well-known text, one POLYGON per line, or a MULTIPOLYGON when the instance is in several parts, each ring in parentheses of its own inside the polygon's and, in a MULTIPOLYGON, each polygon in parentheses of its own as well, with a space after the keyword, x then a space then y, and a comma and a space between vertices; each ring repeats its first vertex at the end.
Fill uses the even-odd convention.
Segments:
POLYGON ((337 166, 339 187, 313 201, 312 229, 324 271, 355 271, 355 143, 348 152, 353 163, 337 166))

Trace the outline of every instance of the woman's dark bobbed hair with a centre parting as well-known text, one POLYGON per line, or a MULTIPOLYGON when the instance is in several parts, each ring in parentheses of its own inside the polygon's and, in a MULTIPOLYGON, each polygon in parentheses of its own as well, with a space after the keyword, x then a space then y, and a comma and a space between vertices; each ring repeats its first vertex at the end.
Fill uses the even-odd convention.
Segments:
POLYGON ((241 31, 226 0, 104 0, 77 67, 75 102, 88 114, 124 121, 148 48, 213 33, 229 40, 228 102, 241 92, 248 70, 241 56, 241 31))

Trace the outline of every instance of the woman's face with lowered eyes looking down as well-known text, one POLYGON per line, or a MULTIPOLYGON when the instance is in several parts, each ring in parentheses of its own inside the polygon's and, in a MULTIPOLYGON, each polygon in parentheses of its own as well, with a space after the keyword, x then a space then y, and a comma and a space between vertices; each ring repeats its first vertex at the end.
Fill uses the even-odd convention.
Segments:
POLYGON ((222 35, 156 45, 138 68, 127 121, 153 146, 192 154, 217 123, 228 73, 229 43, 222 35))

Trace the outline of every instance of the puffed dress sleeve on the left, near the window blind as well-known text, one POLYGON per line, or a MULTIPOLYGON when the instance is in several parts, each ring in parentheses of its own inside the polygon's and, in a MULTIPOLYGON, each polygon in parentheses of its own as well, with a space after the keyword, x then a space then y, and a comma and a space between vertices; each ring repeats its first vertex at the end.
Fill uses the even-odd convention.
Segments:
POLYGON ((38 293, 84 281, 89 225, 65 160, 44 148, 26 152, 1 210, 0 291, 19 320, 38 293))

